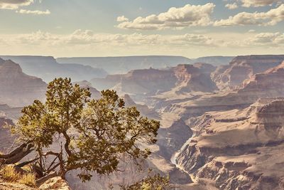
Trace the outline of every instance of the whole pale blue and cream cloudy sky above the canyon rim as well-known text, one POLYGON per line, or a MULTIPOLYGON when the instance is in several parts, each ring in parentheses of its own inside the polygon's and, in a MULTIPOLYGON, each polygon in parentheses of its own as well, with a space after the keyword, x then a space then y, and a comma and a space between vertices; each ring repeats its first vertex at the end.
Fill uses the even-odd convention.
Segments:
POLYGON ((0 55, 284 54, 284 0, 0 0, 0 55))

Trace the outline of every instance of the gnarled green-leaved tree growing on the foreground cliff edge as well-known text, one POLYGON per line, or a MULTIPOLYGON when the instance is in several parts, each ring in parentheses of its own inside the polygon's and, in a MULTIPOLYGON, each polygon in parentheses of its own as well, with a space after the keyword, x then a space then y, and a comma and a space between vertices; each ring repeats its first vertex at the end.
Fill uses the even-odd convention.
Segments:
POLYGON ((138 161, 151 154, 141 144, 156 142, 158 121, 141 117, 136 107, 124 107, 114 90, 102 91, 99 100, 90 96, 88 89, 72 85, 70 79, 55 78, 48 85, 45 103, 35 100, 23 108, 12 130, 29 147, 28 153, 35 151, 31 162, 43 176, 40 180, 48 175, 65 178, 68 171, 78 169, 78 176, 86 181, 92 172, 118 171, 121 157, 138 161))

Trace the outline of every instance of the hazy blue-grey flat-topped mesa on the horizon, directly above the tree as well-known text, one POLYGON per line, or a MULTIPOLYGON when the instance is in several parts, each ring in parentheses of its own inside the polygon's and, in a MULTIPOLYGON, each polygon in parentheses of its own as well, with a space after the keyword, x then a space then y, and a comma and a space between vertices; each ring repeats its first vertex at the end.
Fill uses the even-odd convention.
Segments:
POLYGON ((107 75, 107 72, 101 68, 80 64, 60 64, 50 56, 0 56, 0 58, 13 60, 21 65, 24 73, 42 78, 47 83, 59 77, 81 81, 107 75))

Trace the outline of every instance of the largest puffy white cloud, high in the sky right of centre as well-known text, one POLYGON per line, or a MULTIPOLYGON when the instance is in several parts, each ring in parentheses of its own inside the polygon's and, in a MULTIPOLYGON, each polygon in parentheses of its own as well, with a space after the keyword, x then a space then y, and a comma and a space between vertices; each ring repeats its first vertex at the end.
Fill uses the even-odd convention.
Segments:
POLYGON ((146 17, 137 17, 133 21, 119 23, 119 28, 134 30, 160 30, 163 28, 182 28, 187 26, 208 26, 212 23, 211 14, 215 5, 187 4, 181 8, 172 7, 168 11, 146 17))

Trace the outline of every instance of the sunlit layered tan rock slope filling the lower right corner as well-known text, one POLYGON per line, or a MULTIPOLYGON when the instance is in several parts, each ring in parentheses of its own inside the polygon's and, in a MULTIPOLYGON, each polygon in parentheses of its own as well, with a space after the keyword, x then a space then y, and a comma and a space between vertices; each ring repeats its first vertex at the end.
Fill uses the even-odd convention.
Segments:
POLYGON ((243 110, 207 112, 178 164, 218 189, 284 188, 284 99, 259 100, 243 110))

